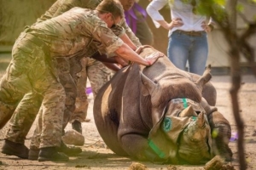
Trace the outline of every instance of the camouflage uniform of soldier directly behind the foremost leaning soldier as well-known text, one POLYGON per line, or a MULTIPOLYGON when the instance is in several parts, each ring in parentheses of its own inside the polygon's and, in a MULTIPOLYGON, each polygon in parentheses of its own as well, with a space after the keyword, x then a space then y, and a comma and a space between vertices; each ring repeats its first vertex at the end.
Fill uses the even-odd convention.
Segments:
MULTIPOLYGON (((45 14, 43 14, 37 20, 37 22, 34 25, 36 25, 37 23, 43 22, 44 20, 49 20, 57 15, 60 15, 61 14, 60 8, 62 3, 63 3, 63 0, 56 1, 49 8, 49 10, 46 11, 45 14)), ((80 5, 80 6, 84 5, 84 3, 80 4, 80 1, 77 1, 77 0, 71 0, 70 2, 67 2, 67 6, 70 6, 69 3, 73 3, 73 5, 80 5)), ((86 0, 86 3, 87 3, 87 0, 86 0)), ((73 6, 70 6, 70 8, 73 8, 73 6)), ((67 8, 67 9, 63 8, 63 10, 68 10, 70 8, 67 8)), ((26 28, 25 32, 28 30, 28 28, 29 27, 26 28)), ((63 126, 62 126, 65 128, 67 126, 67 122, 69 121, 70 116, 72 115, 75 109, 74 105, 75 105, 75 99, 76 99, 76 85, 73 82, 73 78, 69 74, 69 71, 70 71, 69 59, 58 58, 56 61, 57 61, 57 66, 59 68, 60 81, 62 86, 65 89, 65 93, 67 96, 66 102, 65 102, 63 126)), ((36 101, 36 99, 39 99, 38 95, 32 92, 30 94, 27 94, 26 96, 29 96, 28 98, 33 99, 33 101, 36 101)), ((27 100, 26 98, 24 98, 24 100, 30 102, 30 100, 27 100)), ((23 103, 25 101, 23 101, 23 99, 20 101, 20 105, 18 105, 15 112, 9 111, 9 114, 4 113, 0 115, 0 128, 2 128, 6 124, 6 122, 9 121, 9 118, 12 115, 15 115, 11 118, 9 123, 9 129, 15 129, 15 133, 9 130, 9 133, 7 133, 5 139, 8 139, 10 141, 13 141, 15 143, 20 143, 20 144, 24 144, 25 142, 24 139, 26 139, 26 135, 29 132, 29 129, 32 126, 32 122, 34 122, 35 117, 37 116, 39 108, 41 106, 40 100, 37 102, 34 102, 34 103, 37 103, 38 105, 31 105, 28 103, 28 105, 31 105, 31 108, 27 107, 25 111, 24 105, 26 105, 26 103, 23 103), (22 107, 22 109, 20 109, 20 106, 22 107), (18 123, 19 127, 17 126, 17 122, 19 122, 18 123)), ((14 108, 16 106, 14 106, 14 108)), ((14 110, 14 109, 11 109, 11 110, 14 110)), ((43 112, 40 111, 40 113, 42 114, 43 112)))

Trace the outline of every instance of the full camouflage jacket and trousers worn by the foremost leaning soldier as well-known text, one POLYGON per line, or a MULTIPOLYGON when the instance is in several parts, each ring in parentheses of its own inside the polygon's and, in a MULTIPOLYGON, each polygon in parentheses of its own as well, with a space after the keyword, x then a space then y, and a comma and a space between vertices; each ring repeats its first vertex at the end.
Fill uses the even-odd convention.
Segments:
MULTIPOLYGON (((17 45, 13 50, 14 59, 9 66, 9 70, 15 71, 17 78, 8 79, 12 76, 12 72, 8 72, 3 77, 0 89, 1 101, 4 101, 5 105, 9 104, 12 101, 9 102, 9 99, 13 99, 16 96, 13 94, 19 94, 18 92, 21 89, 21 98, 22 95, 31 91, 36 91, 36 93, 43 95, 43 127, 40 128, 42 129, 40 148, 57 146, 61 142, 65 93, 61 83, 58 81, 57 71, 53 70, 56 66, 53 65, 52 61, 55 58, 73 57, 79 54, 90 56, 91 52, 93 50, 95 52, 98 48, 90 47, 93 41, 100 42, 102 48, 106 48, 108 54, 113 53, 123 44, 93 11, 84 8, 73 8, 65 14, 32 26, 16 42, 17 45), (72 21, 70 21, 71 19, 72 21), (29 57, 27 57, 28 54, 22 54, 23 52, 29 52, 29 57), (15 54, 18 55, 16 60, 19 60, 19 62, 15 62, 15 54), (34 55, 37 57, 33 57, 34 55), (26 63, 24 63, 25 61, 26 63), (16 67, 16 65, 18 66, 16 67), (26 65, 28 66, 26 67, 26 65), (49 65, 52 65, 50 69, 49 65), (26 74, 22 73, 23 70, 32 71, 29 72, 32 76, 27 75, 31 79, 24 76, 26 74), (4 81, 5 79, 7 80, 4 81), (25 80, 23 81, 23 79, 25 80), (17 84, 19 86, 14 84, 9 87, 12 81, 14 83, 21 81, 23 84, 17 84), (23 90, 23 88, 25 89, 23 90), (2 99, 4 96, 2 93, 5 90, 12 90, 10 93, 5 93, 5 96, 7 94, 12 94, 12 96, 2 99)), ((19 100, 20 98, 15 102, 19 100)), ((15 133, 15 129, 12 128, 15 128, 15 126, 12 126, 9 132, 15 133)), ((7 134, 8 136, 9 133, 7 134)))

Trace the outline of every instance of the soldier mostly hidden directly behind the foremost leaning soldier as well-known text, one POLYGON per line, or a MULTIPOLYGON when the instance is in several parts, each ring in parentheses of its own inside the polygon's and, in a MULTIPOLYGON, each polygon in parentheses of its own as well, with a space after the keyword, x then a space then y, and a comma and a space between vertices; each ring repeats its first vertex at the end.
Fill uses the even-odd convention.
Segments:
MULTIPOLYGON (((63 11, 60 10, 62 7, 63 0, 56 1, 48 11, 45 12, 40 18, 38 18, 37 23, 43 22, 44 20, 49 20, 59 14, 62 14, 63 11)), ((65 1, 66 2, 66 1, 65 1)), ((79 3, 77 0, 70 0, 67 3, 73 3, 73 5, 80 5, 85 7, 84 3, 79 3)), ((72 7, 70 7, 72 8, 72 7)), ((70 8, 63 8, 63 10, 68 10, 70 8)), ((26 26, 27 31, 28 26, 26 26)), ((23 33, 21 33, 23 34, 23 33)), ((76 85, 73 82, 73 78, 70 75, 70 66, 69 59, 66 58, 57 58, 57 66, 59 70, 59 78, 62 86, 65 89, 66 93, 66 102, 65 102, 65 110, 63 117, 63 128, 66 127, 67 122, 69 121, 69 117, 74 111, 74 104, 76 99, 76 85)), ((39 111, 42 96, 38 93, 31 92, 24 96, 24 98, 20 101, 20 105, 22 105, 22 109, 20 109, 20 105, 16 108, 13 113, 14 116, 10 119, 9 122, 9 130, 5 137, 5 141, 3 143, 2 153, 7 155, 19 156, 20 158, 28 158, 28 149, 24 145, 26 135, 29 132, 32 122, 34 122, 35 117, 39 111), (18 122, 18 123, 17 123, 18 122), (18 124, 18 125, 17 125, 18 124), (12 129, 15 131, 13 132, 12 129)), ((15 105, 13 106, 15 108, 15 105)), ((40 110, 43 111, 43 110, 40 110)), ((0 115, 0 127, 2 128, 6 122, 9 121, 12 111, 6 111, 5 114, 0 115)), ((41 113, 42 114, 42 113, 41 113)), ((82 152, 79 147, 67 146, 61 141, 61 146, 58 147, 58 151, 64 152, 67 155, 75 155, 82 152)))

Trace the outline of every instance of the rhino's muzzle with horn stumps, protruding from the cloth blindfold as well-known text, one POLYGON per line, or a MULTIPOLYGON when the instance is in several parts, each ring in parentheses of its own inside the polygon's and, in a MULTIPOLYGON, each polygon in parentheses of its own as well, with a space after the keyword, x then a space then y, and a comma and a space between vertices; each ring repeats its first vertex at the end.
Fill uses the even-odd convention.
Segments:
MULTIPOLYGON (((191 105, 186 112, 195 113, 191 105)), ((211 128, 204 112, 200 112, 197 116, 192 116, 192 120, 184 128, 178 140, 178 156, 184 163, 205 163, 212 158, 211 128)))

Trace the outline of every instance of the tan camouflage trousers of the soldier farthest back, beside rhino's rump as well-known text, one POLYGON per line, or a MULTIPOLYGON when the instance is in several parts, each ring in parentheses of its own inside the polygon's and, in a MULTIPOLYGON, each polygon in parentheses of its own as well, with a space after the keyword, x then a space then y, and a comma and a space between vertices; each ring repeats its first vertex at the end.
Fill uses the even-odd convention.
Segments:
POLYGON ((88 98, 85 93, 87 77, 90 80, 90 86, 94 97, 102 86, 111 78, 112 71, 110 71, 102 62, 96 59, 83 58, 80 60, 82 71, 77 74, 77 98, 75 104, 75 111, 71 116, 70 122, 75 120, 84 122, 87 116, 88 98))

